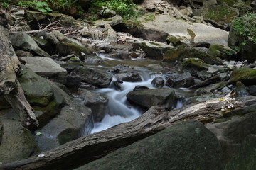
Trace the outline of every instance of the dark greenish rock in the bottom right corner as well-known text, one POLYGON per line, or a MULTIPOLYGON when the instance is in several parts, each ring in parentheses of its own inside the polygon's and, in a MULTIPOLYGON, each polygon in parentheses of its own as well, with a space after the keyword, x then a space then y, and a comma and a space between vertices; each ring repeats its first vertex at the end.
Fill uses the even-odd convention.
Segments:
POLYGON ((245 137, 239 149, 239 153, 225 166, 225 170, 255 169, 256 135, 245 137))

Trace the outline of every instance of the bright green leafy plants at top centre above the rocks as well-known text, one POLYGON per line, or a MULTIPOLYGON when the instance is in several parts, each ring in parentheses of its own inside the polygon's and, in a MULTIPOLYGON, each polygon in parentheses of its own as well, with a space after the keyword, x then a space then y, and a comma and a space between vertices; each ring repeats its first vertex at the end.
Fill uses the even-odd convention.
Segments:
POLYGON ((97 13, 97 10, 105 7, 116 11, 124 19, 129 19, 137 15, 135 6, 132 0, 95 0, 90 4, 90 12, 97 13))

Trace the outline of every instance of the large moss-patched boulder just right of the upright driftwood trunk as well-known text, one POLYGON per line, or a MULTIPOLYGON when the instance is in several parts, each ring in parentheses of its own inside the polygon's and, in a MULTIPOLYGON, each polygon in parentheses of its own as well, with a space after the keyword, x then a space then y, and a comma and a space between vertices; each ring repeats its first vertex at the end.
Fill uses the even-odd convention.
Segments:
POLYGON ((65 99, 47 79, 38 76, 28 67, 22 67, 21 70, 18 81, 21 83, 28 103, 36 111, 36 117, 42 127, 60 112, 65 105, 65 99))

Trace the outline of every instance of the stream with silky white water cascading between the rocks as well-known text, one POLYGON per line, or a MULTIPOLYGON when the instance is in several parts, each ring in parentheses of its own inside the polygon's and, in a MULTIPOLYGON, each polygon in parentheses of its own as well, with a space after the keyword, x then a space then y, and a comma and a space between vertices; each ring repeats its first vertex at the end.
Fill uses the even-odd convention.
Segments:
MULTIPOLYGON (((108 114, 100 122, 94 122, 93 127, 85 130, 85 134, 100 132, 102 130, 106 130, 107 128, 111 128, 114 125, 118 125, 119 123, 125 123, 135 118, 138 118, 142 115, 146 110, 139 108, 138 106, 133 106, 127 101, 127 93, 129 91, 133 91, 135 86, 146 86, 149 89, 154 89, 155 87, 151 84, 151 81, 155 77, 165 77, 165 72, 169 70, 164 70, 160 64, 160 60, 152 60, 152 59, 132 59, 132 60, 117 60, 109 57, 105 57, 105 55, 100 54, 105 62, 101 64, 87 64, 88 67, 92 69, 100 69, 104 72, 112 72, 114 68, 117 67, 128 67, 129 69, 138 72, 140 77, 142 77, 142 81, 139 82, 128 82, 123 81, 120 85, 120 89, 117 90, 114 87, 114 81, 117 81, 117 78, 112 78, 112 82, 109 87, 102 89, 95 89, 93 91, 105 94, 108 98, 108 114)), ((166 87, 166 86, 164 86, 166 87)), ((169 87, 168 87, 169 88, 169 87)), ((174 89, 176 96, 190 96, 191 91, 188 89, 174 89)), ((182 100, 176 101, 175 108, 181 108, 183 106, 182 100)), ((88 128, 88 127, 85 127, 88 128)))

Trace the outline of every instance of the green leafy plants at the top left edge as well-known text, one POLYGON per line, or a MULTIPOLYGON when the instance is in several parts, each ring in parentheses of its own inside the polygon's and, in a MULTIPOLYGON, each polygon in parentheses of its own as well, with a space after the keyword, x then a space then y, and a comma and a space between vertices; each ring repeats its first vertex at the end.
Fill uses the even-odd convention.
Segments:
POLYGON ((47 0, 45 1, 18 1, 18 6, 33 8, 34 10, 47 13, 53 11, 49 6, 47 0))

